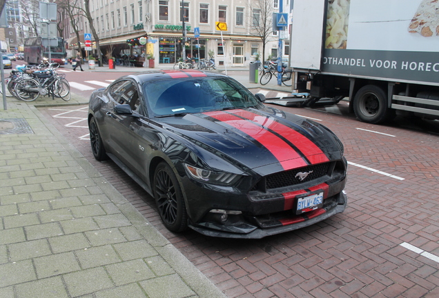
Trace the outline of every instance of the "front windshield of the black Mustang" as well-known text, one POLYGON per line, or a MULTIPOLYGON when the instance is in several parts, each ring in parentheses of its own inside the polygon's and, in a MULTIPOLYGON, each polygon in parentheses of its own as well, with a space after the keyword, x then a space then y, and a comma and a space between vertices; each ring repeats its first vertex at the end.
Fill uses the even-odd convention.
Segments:
POLYGON ((259 101, 228 77, 168 79, 144 84, 148 109, 157 116, 249 108, 259 101))

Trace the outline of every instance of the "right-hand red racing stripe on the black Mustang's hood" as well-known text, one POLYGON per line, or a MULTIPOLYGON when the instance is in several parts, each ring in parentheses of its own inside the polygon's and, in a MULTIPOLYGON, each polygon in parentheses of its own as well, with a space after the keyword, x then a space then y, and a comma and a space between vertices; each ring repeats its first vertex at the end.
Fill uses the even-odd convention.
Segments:
POLYGON ((273 130, 273 132, 276 132, 278 135, 282 135, 282 137, 291 142, 304 156, 306 156, 309 162, 313 164, 329 161, 328 157, 326 157, 322 150, 315 145, 313 141, 293 128, 278 122, 273 117, 257 115, 254 112, 248 112, 246 110, 240 110, 239 112, 234 112, 234 114, 258 123, 269 130, 273 130))

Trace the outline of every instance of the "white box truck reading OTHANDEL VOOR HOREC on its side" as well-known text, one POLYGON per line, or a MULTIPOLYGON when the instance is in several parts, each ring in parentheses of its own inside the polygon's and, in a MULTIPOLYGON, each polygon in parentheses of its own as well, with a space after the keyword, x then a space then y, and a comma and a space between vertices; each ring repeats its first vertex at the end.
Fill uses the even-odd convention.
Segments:
POLYGON ((360 121, 439 118, 438 0, 294 0, 293 90, 360 121))

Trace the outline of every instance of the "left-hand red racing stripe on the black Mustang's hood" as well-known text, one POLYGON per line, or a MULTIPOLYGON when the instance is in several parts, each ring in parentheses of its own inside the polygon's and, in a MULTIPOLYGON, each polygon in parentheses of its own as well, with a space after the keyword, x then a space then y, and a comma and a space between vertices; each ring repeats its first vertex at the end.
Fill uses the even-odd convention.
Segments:
MULTIPOLYGON (((231 112, 233 112, 233 110, 231 112)), ((273 132, 266 130, 266 128, 222 111, 205 112, 204 115, 222 121, 223 123, 246 133, 246 135, 249 135, 261 143, 262 146, 268 149, 271 154, 276 157, 284 170, 307 166, 306 161, 304 161, 304 159, 293 148, 291 148, 288 143, 283 139, 280 139, 280 137, 277 137, 273 132)))

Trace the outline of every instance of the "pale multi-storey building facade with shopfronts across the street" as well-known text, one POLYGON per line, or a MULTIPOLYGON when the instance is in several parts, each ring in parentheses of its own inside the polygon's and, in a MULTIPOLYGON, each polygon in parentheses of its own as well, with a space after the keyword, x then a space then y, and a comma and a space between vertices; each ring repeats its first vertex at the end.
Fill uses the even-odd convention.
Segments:
MULTIPOLYGON (((104 55, 149 55, 156 65, 175 63, 182 57, 195 61, 213 57, 220 66, 247 66, 262 56, 262 41, 255 24, 265 17, 271 19, 271 14, 278 11, 277 6, 277 0, 90 0, 93 26, 104 55), (270 10, 264 12, 253 5, 260 1, 269 1, 270 10), (226 23, 226 30, 217 30, 217 22, 226 23), (199 37, 194 33, 199 33, 199 37)), ((284 7, 288 6, 285 0, 284 7)), ((79 29, 81 38, 90 33, 85 18, 79 29)), ((265 59, 278 54, 278 32, 269 30, 265 59)), ((66 31, 69 48, 77 48, 71 28, 66 31)), ((288 54, 289 39, 282 34, 282 54, 288 54)))

